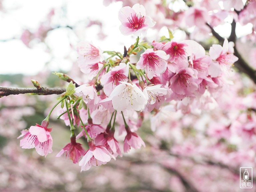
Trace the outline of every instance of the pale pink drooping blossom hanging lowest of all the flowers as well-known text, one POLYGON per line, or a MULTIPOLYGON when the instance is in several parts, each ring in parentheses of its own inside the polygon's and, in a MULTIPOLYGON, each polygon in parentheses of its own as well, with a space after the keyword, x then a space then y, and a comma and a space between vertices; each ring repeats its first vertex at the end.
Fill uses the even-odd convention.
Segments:
POLYGON ((81 172, 89 170, 92 165, 100 166, 101 164, 106 164, 106 162, 109 162, 111 158, 116 160, 116 158, 111 155, 105 147, 95 145, 93 140, 89 140, 88 145, 89 149, 85 152, 83 158, 79 162, 81 172))

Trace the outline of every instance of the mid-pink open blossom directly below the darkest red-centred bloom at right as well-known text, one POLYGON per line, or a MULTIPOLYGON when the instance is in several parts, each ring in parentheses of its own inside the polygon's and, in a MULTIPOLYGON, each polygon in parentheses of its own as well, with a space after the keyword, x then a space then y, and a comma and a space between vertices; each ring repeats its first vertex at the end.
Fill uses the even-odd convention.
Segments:
POLYGON ((170 88, 179 95, 193 96, 198 89, 195 72, 191 68, 180 69, 171 79, 170 88))

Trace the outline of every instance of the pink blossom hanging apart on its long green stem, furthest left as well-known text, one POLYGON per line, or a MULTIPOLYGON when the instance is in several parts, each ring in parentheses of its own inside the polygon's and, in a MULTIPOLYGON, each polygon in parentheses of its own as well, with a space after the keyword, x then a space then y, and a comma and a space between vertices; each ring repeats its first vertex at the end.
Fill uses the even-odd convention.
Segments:
POLYGON ((36 126, 31 126, 29 130, 22 130, 21 135, 24 136, 20 140, 20 146, 23 149, 36 149, 36 152, 45 156, 48 153, 52 153, 52 136, 50 132, 52 128, 47 128, 47 126, 41 126, 36 124, 36 126))

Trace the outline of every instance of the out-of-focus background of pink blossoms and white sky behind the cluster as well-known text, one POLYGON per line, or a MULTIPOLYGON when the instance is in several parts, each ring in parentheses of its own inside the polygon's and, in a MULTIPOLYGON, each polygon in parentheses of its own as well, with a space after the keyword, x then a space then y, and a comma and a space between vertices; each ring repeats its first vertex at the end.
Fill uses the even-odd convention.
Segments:
MULTIPOLYGON (((36 79, 43 87, 66 87, 66 82, 52 74, 55 71, 68 74, 77 83, 87 82, 76 63, 76 44, 87 40, 102 50, 122 53, 123 47, 133 44, 136 37, 120 33, 118 11, 135 3, 143 4, 157 22, 144 40, 152 42, 168 36, 168 27, 175 40, 194 39, 209 50, 218 43, 211 32, 198 34, 197 28, 186 27, 182 20, 183 12, 196 2, 0 0, 0 86, 33 87, 30 80, 36 79)), ((222 37, 231 33, 232 11, 215 27, 222 37)), ((245 61, 255 69, 252 26, 237 23, 236 44, 245 61)), ((256 174, 255 84, 236 68, 231 70, 227 84, 209 106, 211 110, 183 114, 167 105, 156 115, 148 114, 138 130, 145 148, 131 150, 116 161, 82 173, 78 164, 65 157, 55 158, 70 136, 69 127, 56 120, 58 109, 50 120, 50 127, 54 127, 53 153, 41 157, 34 149, 21 149, 16 139, 22 129, 46 117, 56 103, 56 95, 2 97, 0 191, 244 191, 239 187, 239 168, 253 167, 256 174)), ((117 138, 122 143, 124 137, 117 138)), ((86 142, 81 143, 88 149, 86 142)))

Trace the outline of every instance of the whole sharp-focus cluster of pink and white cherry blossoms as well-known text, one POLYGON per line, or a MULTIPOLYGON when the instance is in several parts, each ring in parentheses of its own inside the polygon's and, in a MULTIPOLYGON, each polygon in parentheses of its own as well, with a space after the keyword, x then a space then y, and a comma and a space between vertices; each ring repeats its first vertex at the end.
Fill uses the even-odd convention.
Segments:
MULTIPOLYGON (((147 29, 155 25, 139 4, 132 8, 123 7, 119 11, 119 20, 124 35, 145 35, 147 29)), ((83 156, 79 162, 81 171, 122 156, 115 138, 115 126, 119 128, 119 135, 125 135, 123 150, 128 152, 131 147, 145 147, 144 141, 135 133, 145 113, 153 112, 157 116, 161 107, 170 103, 183 113, 189 113, 195 106, 203 108, 214 99, 214 93, 225 83, 223 75, 238 60, 227 39, 223 46, 212 45, 209 54, 193 40, 170 39, 169 42, 145 44, 139 42, 139 37, 128 50, 125 48, 124 54, 103 52, 87 41, 78 44, 77 53, 78 65, 83 73, 89 74, 89 82, 62 98, 66 100, 67 110, 61 109, 60 116, 66 125, 70 125, 72 136, 71 142, 57 157, 65 154, 77 163, 83 156), (138 61, 132 63, 130 55, 142 50, 138 61), (103 53, 110 57, 104 59, 103 53), (102 86, 103 89, 99 89, 102 86), (68 103, 67 98, 75 103, 68 103), (83 130, 75 138, 74 130, 80 128, 83 130), (81 137, 87 138, 87 151, 76 142, 81 137)), ((35 147, 45 156, 51 153, 51 129, 47 125, 43 121, 42 126, 31 126, 22 131, 22 148, 35 147)))

